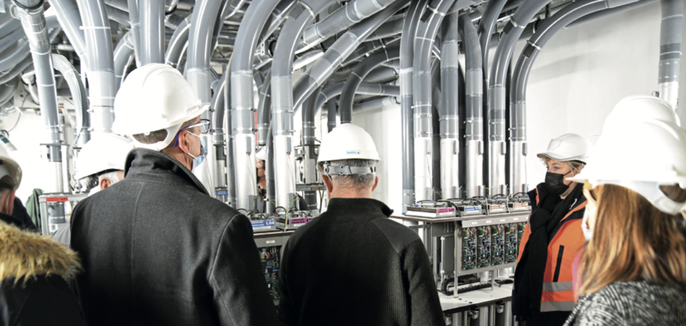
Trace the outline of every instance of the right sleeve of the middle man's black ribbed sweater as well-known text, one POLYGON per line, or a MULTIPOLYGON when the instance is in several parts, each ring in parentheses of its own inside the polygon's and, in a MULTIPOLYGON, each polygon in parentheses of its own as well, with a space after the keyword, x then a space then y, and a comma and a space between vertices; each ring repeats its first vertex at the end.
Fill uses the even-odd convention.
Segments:
POLYGON ((421 240, 405 248, 402 261, 412 317, 410 325, 444 325, 446 322, 443 320, 429 255, 421 240))

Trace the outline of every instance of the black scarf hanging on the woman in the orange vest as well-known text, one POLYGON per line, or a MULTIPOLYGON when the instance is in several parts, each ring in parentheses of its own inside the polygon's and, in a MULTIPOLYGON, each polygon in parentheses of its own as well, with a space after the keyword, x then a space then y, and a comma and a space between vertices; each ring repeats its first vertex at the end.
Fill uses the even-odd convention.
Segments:
POLYGON ((543 274, 548 258, 550 234, 571 210, 571 206, 583 195, 582 190, 583 184, 579 183, 564 200, 557 203, 552 212, 540 207, 547 199, 544 195, 552 194, 541 195, 540 203, 529 217, 531 234, 517 264, 512 290, 512 313, 517 316, 517 320, 537 320, 540 317, 543 274))

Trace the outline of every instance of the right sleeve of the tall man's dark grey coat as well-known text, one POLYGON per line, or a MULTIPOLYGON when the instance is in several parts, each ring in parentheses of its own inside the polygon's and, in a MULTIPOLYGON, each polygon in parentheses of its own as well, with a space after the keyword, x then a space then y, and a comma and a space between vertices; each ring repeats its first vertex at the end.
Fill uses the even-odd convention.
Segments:
POLYGON ((223 231, 211 270, 221 325, 277 325, 263 275, 250 220, 236 215, 223 231))

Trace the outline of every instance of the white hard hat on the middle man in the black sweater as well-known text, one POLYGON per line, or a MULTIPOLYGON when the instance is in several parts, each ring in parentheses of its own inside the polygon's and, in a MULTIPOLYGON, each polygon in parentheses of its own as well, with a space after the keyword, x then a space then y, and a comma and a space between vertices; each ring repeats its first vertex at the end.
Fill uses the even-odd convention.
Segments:
POLYGON ((374 140, 360 126, 342 123, 324 136, 319 147, 317 162, 337 161, 339 159, 379 160, 374 140))

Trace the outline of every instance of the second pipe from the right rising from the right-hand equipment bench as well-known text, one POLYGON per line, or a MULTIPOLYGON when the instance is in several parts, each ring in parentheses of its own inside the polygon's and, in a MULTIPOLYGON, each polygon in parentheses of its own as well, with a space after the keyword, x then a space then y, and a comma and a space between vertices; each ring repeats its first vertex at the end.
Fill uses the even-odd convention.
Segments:
POLYGON ((531 18, 551 0, 529 0, 512 16, 504 29, 505 36, 499 42, 490 71, 488 90, 488 185, 489 195, 505 194, 505 79, 519 36, 531 18))

